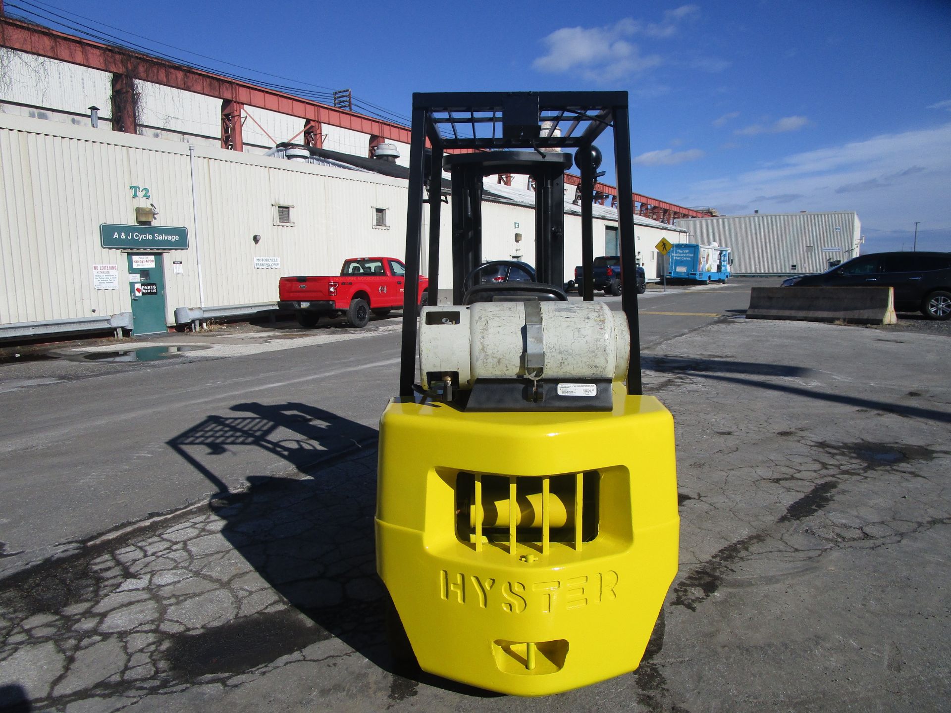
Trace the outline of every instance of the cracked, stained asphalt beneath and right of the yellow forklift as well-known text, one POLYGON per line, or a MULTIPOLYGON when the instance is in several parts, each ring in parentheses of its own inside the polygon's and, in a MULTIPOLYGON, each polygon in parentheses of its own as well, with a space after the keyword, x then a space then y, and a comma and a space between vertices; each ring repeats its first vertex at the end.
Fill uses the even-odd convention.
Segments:
POLYGON ((630 675, 513 699, 395 673, 363 427, 0 581, 0 710, 947 710, 948 344, 729 319, 645 353, 674 414, 681 564, 630 675))

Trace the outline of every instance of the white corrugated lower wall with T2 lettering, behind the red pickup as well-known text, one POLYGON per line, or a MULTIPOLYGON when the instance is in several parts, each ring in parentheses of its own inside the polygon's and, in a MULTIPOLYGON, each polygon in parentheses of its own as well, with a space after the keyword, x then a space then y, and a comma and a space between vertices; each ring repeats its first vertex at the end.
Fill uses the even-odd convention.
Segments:
MULTIPOLYGON (((273 304, 283 275, 335 274, 361 255, 403 258, 407 183, 366 170, 0 113, 0 175, 0 326, 134 314, 144 263, 133 254, 153 256, 167 325, 177 307, 273 304), (186 229, 187 247, 103 247, 100 226, 134 226, 137 208, 157 211, 153 228, 186 229)), ((534 193, 486 187, 483 257, 534 261, 534 193)), ((443 235, 451 213, 442 211, 443 235)), ((566 202, 566 213, 567 280, 581 260, 580 208, 566 202)), ((610 254, 616 211, 595 206, 594 216, 595 255, 610 254)), ((649 277, 662 237, 686 233, 635 217, 649 277)), ((448 288, 450 251, 441 253, 448 288)), ((424 240, 424 274, 427 255, 424 240)))

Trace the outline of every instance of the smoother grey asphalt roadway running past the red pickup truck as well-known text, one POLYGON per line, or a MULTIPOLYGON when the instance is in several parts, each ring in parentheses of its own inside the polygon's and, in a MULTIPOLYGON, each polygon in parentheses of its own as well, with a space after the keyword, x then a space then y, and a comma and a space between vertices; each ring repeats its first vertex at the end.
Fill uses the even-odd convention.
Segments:
MULTIPOLYGON (((597 299, 620 309, 619 298, 597 299)), ((651 288, 643 346, 747 304, 743 285, 651 288)), ((0 475, 0 503, 15 507, 0 507, 0 576, 373 441, 398 386, 399 334, 398 316, 364 329, 285 320, 7 349, 0 458, 15 466, 0 475)))

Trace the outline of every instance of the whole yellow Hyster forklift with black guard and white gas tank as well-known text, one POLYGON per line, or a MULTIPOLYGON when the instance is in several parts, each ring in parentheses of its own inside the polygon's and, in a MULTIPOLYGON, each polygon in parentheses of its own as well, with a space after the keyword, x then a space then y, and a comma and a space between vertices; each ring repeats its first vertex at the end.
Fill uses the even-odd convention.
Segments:
POLYGON ((413 95, 402 364, 380 420, 377 568, 395 656, 519 696, 635 669, 677 570, 673 419, 641 395, 637 291, 623 290, 623 312, 592 301, 593 142, 608 127, 622 272, 634 276, 627 92, 413 95), (560 287, 565 149, 584 199, 580 302, 560 287), (452 305, 437 305, 443 167, 452 305), (534 179, 538 282, 479 279, 482 179, 493 174, 534 179), (437 306, 423 308, 417 330, 424 188, 437 306))

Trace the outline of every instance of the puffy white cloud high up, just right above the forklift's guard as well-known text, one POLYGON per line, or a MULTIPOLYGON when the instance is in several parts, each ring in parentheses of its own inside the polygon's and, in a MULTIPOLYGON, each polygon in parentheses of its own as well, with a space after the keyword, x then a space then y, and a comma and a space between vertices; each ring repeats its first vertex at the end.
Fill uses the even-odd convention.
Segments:
POLYGON ((611 82, 640 74, 659 67, 662 60, 656 54, 641 54, 640 48, 631 42, 631 38, 637 35, 670 37, 676 34, 680 23, 696 17, 698 12, 696 5, 683 5, 675 10, 667 10, 663 20, 657 23, 626 17, 613 25, 599 28, 556 29, 542 38, 546 53, 537 57, 532 67, 549 73, 574 72, 596 82, 611 82))

